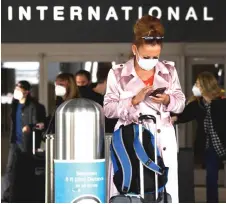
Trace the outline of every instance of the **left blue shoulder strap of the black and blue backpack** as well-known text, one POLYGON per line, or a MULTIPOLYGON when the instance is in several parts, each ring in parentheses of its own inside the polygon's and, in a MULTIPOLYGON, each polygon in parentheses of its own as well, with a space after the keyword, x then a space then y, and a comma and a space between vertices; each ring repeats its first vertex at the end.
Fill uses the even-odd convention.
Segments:
POLYGON ((112 138, 112 147, 122 167, 122 192, 127 193, 130 189, 132 180, 132 165, 123 142, 122 128, 119 128, 114 132, 112 138))

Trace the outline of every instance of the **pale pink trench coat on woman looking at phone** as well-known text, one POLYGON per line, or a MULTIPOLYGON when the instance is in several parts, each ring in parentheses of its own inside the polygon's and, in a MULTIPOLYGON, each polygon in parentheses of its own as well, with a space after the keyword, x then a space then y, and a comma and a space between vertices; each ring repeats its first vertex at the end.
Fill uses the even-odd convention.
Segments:
MULTIPOLYGON (((159 129, 157 144, 165 166, 169 167, 166 190, 171 195, 172 202, 178 203, 177 143, 170 112, 180 113, 183 111, 185 96, 181 90, 174 62, 158 62, 155 68, 153 88, 167 87, 165 93, 170 96, 170 103, 167 107, 153 103, 150 97, 146 97, 139 105, 132 106, 132 97, 144 87, 145 84, 136 74, 133 60, 114 66, 108 74, 104 112, 108 118, 119 118, 115 130, 122 124, 127 125, 137 121, 139 113, 156 116, 157 129, 159 129)), ((150 130, 153 130, 153 125, 147 125, 149 125, 150 130)), ((111 161, 109 163, 108 194, 109 198, 118 194, 113 183, 111 161)))

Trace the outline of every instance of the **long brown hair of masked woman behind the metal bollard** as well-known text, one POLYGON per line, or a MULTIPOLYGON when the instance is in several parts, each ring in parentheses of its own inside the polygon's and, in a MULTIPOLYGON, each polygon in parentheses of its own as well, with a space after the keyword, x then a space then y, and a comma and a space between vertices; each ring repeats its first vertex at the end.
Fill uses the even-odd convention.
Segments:
POLYGON ((65 101, 79 98, 79 90, 74 80, 74 75, 70 73, 61 73, 56 77, 56 80, 67 81, 67 93, 65 97, 65 101))

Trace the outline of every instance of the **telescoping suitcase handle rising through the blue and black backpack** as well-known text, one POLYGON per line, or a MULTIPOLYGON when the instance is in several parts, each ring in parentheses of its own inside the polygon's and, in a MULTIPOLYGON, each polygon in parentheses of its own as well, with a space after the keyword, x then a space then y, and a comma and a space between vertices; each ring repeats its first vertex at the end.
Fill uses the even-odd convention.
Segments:
MULTIPOLYGON (((158 158, 157 158, 157 125, 156 125, 156 117, 153 115, 142 115, 140 113, 140 116, 138 118, 139 121, 139 139, 141 144, 143 144, 143 134, 142 134, 142 124, 145 120, 152 120, 155 124, 155 130, 154 130, 154 154, 155 154, 155 164, 158 165, 158 158)), ((140 194, 141 197, 144 198, 144 171, 143 171, 143 164, 140 162, 140 194)), ((155 199, 158 199, 158 174, 155 173, 155 199)))

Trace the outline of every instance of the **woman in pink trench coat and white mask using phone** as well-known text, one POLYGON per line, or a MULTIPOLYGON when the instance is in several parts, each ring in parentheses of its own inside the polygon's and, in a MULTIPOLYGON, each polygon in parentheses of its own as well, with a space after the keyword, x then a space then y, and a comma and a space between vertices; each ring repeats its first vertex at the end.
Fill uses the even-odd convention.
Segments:
MULTIPOLYGON (((133 57, 110 70, 104 111, 108 118, 119 118, 115 130, 121 125, 137 123, 140 113, 156 117, 158 147, 165 166, 169 167, 166 190, 172 202, 178 203, 177 144, 170 112, 183 111, 185 96, 174 62, 159 61, 163 37, 164 28, 159 19, 146 15, 136 22, 133 57), (162 87, 166 87, 164 93, 150 96, 153 90, 162 87)), ((117 193, 113 182, 109 191, 110 197, 117 193)))

